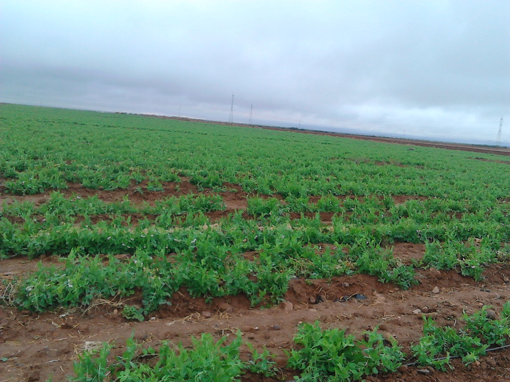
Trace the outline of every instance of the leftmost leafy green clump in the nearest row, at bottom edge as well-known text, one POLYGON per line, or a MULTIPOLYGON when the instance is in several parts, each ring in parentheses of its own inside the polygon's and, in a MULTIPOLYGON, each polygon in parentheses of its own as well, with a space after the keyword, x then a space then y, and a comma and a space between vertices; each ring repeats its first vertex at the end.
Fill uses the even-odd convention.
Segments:
POLYGON ((237 381, 246 372, 264 376, 275 374, 275 364, 267 349, 258 352, 241 339, 231 341, 226 336, 214 341, 211 334, 192 337, 191 348, 182 344, 176 347, 163 342, 159 350, 142 348, 133 336, 126 341, 120 357, 111 354, 112 345, 104 344, 99 350, 85 351, 74 362, 72 382, 228 382, 237 381), (250 360, 240 358, 241 346, 248 345, 250 360), (150 360, 150 362, 147 362, 150 360))

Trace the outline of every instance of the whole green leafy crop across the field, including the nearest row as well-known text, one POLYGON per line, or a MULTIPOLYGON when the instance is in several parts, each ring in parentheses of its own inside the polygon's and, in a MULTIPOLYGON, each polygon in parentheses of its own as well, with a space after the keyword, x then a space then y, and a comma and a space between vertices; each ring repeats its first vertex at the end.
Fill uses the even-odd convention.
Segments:
MULTIPOLYGON (((171 305, 179 290, 206 302, 243 294, 261 308, 283 301, 295 279, 361 274, 408 290, 420 285, 420 271, 433 267, 483 281, 488 268, 506 266, 510 256, 510 166, 498 162, 506 157, 413 148, 2 104, 0 266, 9 259, 50 255, 63 260, 39 262, 22 277, 4 280, 0 301, 42 313, 138 296, 136 304, 123 304, 121 313, 126 320, 143 321, 171 305), (424 254, 396 257, 396 243, 423 244, 424 254)), ((415 359, 441 369, 448 362, 435 360, 437 354, 460 355, 470 363, 489 345, 507 343, 510 307, 492 321, 484 315, 487 309, 466 316, 468 329, 460 334, 426 319, 415 359), (477 336, 489 332, 498 334, 479 342, 477 336), (443 347, 427 340, 439 337, 443 347), (448 341, 463 345, 448 350, 448 341)), ((289 354, 289 367, 300 370, 302 380, 355 380, 402 363, 397 344, 384 346, 375 332, 359 343, 330 330, 300 327, 295 341, 301 350, 289 354), (305 351, 307 336, 321 338, 324 349, 328 341, 344 341, 358 352, 346 356, 351 366, 342 370, 326 364, 314 369, 310 359, 326 356, 317 348, 305 351)), ((257 362, 248 367, 235 354, 240 345, 234 345, 214 343, 207 335, 195 340, 193 367, 203 370, 199 351, 210 349, 211 357, 230 368, 226 379, 199 380, 233 380, 246 368, 272 375, 268 354, 257 353, 257 362)), ((138 351, 130 346, 133 354, 138 351)), ((94 374, 98 365, 110 373, 76 380, 134 381, 147 375, 154 381, 198 380, 191 371, 161 379, 172 369, 169 359, 189 366, 183 349, 160 349, 157 366, 143 358, 132 361, 128 353, 112 364, 109 348, 101 351, 80 358, 76 378, 94 374)), ((339 357, 338 351, 326 358, 339 357)))

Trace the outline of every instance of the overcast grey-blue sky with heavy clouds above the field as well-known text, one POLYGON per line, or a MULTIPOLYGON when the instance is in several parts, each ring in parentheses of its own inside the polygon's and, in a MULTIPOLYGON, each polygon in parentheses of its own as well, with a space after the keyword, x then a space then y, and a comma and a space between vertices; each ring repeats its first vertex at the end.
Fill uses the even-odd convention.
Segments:
POLYGON ((0 7, 2 102, 510 142, 508 0, 0 7))

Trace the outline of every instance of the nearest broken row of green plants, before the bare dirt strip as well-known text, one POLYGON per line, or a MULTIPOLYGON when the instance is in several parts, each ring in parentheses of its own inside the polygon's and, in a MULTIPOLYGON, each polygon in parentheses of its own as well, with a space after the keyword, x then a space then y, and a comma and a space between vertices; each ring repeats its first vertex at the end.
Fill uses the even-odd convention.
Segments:
MULTIPOLYGON (((510 303, 506 302, 500 319, 488 318, 484 306, 473 315, 464 314, 464 328, 439 328, 431 318, 424 318, 424 336, 412 346, 419 366, 440 370, 451 365, 452 357, 462 358, 469 365, 486 354, 494 345, 510 340, 510 303)), ((362 340, 345 330, 321 329, 319 322, 298 326, 295 348, 287 352, 287 366, 301 373, 296 382, 350 382, 363 377, 396 371, 405 361, 402 348, 377 329, 361 334, 362 340)), ((267 349, 258 352, 241 338, 222 337, 215 342, 210 334, 192 339, 192 347, 171 347, 163 342, 156 351, 137 345, 133 338, 126 341, 120 357, 111 354, 112 345, 83 352, 74 362, 75 382, 106 381, 234 381, 246 372, 264 376, 276 375, 276 365, 267 349), (240 348, 246 346, 251 356, 242 361, 240 348)))

